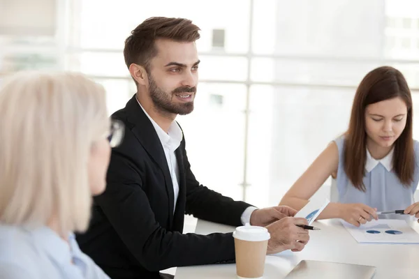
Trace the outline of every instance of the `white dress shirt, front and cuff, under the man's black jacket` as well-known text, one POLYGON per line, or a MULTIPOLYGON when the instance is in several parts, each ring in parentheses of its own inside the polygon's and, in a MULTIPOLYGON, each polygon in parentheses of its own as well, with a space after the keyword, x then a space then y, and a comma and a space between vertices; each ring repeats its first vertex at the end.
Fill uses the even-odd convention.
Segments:
MULTIPOLYGON (((179 125, 177 125, 175 121, 173 121, 169 127, 168 133, 166 133, 159 126, 159 124, 157 124, 156 121, 154 121, 152 117, 150 117, 149 114, 147 114, 147 112, 144 110, 144 107, 142 107, 138 99, 137 102, 138 105, 140 105, 142 111, 152 122, 154 130, 156 130, 156 133, 159 136, 161 146, 163 146, 164 154, 168 162, 170 176, 172 177, 173 193, 175 194, 175 201, 173 203, 173 213, 175 213, 177 197, 179 197, 179 166, 177 165, 175 150, 179 147, 180 142, 182 142, 182 129, 179 127, 179 125)), ((254 206, 249 206, 246 210, 244 210, 241 218, 243 225, 245 225, 246 223, 250 223, 251 213, 253 213, 253 211, 255 211, 256 209, 257 208, 254 206)))

